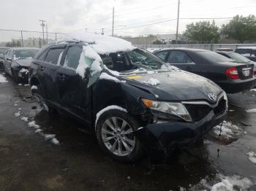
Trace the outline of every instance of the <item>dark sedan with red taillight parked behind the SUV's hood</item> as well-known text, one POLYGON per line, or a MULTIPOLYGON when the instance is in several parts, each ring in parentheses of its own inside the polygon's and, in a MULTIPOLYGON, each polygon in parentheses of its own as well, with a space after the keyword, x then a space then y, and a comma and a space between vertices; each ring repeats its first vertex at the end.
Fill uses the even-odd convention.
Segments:
POLYGON ((155 52, 180 69, 211 79, 226 93, 238 93, 255 85, 254 65, 236 63, 217 52, 200 49, 167 49, 155 52))

